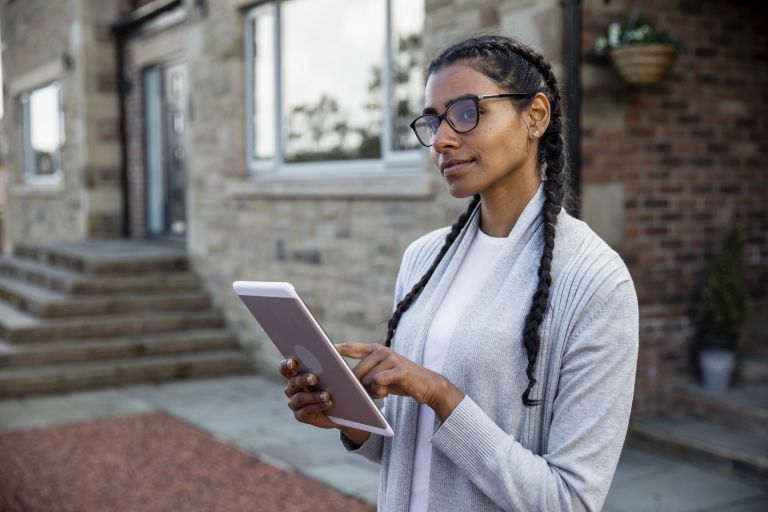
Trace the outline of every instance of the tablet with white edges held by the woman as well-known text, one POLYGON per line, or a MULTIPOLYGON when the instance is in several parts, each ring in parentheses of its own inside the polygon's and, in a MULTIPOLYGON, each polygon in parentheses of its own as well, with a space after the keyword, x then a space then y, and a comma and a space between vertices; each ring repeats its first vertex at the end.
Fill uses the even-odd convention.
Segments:
POLYGON ((337 425, 393 436, 384 415, 328 339, 290 283, 237 281, 233 285, 283 357, 293 358, 300 373, 318 377, 312 389, 328 391, 326 411, 337 425))

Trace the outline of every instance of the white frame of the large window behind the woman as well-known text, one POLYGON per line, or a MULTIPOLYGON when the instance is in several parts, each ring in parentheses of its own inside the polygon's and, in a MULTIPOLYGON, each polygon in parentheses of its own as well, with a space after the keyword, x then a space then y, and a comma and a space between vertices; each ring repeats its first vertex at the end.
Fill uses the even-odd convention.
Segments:
POLYGON ((392 149, 392 131, 394 130, 393 102, 395 98, 392 71, 394 68, 395 44, 392 37, 392 1, 386 0, 385 45, 382 66, 382 156, 378 159, 365 160, 329 160, 323 162, 287 163, 283 159, 283 101, 282 75, 282 20, 280 4, 290 0, 273 0, 250 9, 245 16, 245 162, 250 177, 259 179, 283 178, 334 178, 357 176, 413 175, 423 173, 423 151, 420 148, 408 150, 392 149), (271 14, 274 19, 274 61, 275 65, 275 109, 272 112, 275 130, 274 156, 269 159, 253 157, 254 141, 254 33, 253 21, 257 16, 271 14))

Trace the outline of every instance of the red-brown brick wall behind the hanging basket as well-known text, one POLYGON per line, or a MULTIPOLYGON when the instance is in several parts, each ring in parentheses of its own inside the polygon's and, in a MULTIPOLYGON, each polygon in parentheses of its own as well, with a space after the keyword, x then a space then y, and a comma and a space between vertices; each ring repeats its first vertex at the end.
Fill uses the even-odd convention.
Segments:
POLYGON ((696 298, 732 220, 747 228, 754 296, 768 285, 768 10, 648 0, 684 41, 661 84, 630 88, 591 48, 630 2, 584 2, 583 180, 625 188, 618 247, 641 305, 638 403, 689 373, 696 298))

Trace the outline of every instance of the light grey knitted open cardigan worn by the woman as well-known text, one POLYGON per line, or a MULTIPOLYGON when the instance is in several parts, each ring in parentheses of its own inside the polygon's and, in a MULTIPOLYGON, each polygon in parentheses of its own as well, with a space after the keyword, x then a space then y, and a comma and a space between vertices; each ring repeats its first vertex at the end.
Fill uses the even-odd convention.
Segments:
MULTIPOLYGON (((528 382, 522 332, 537 284, 543 201, 540 188, 451 336, 442 374, 466 397, 435 424, 430 510, 600 510, 608 493, 634 391, 637 297, 618 254, 561 212, 531 393, 541 405, 522 405, 528 382)), ((476 210, 401 318, 392 345, 398 353, 421 361, 430 322, 478 224, 476 210)), ((446 233, 434 231, 408 247, 396 302, 430 266, 446 233)), ((343 435, 342 442, 381 463, 379 510, 406 511, 418 405, 390 395, 384 413, 394 437, 372 435, 357 450, 343 435)))

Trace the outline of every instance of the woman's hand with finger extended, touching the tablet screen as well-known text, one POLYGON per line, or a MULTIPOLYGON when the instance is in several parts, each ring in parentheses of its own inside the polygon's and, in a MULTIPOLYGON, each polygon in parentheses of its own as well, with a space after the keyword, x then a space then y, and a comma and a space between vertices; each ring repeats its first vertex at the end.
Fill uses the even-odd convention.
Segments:
POLYGON ((352 370, 371 397, 389 394, 409 396, 435 410, 441 420, 450 414, 464 394, 448 379, 376 343, 342 343, 343 356, 360 359, 352 370), (444 414, 444 416, 443 416, 444 414))

